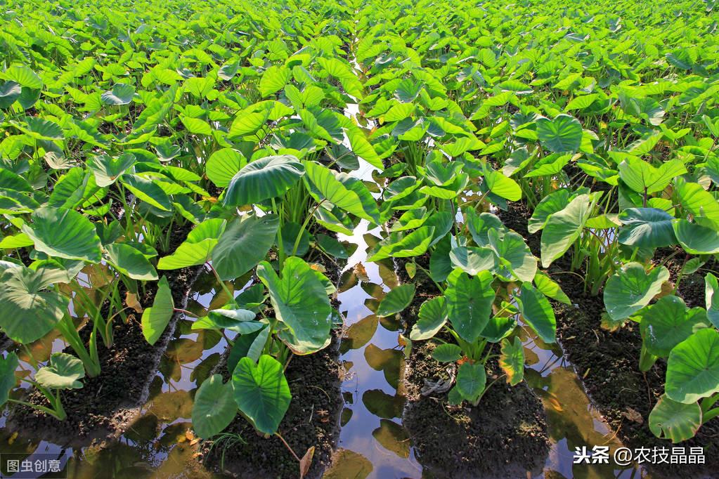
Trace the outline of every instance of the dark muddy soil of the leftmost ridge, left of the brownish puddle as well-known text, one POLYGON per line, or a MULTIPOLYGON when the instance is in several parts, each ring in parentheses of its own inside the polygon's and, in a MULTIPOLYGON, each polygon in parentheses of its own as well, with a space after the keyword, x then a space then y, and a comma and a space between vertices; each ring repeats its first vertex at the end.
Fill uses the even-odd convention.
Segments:
MULTIPOLYGON (((173 232, 170 251, 187 236, 188 227, 173 232)), ((175 307, 186 305, 192 284, 202 266, 164 271, 173 293, 175 307)), ((156 282, 145 285, 140 298, 142 307, 152 306, 157 291, 156 282)), ((99 340, 98 353, 101 373, 94 378, 83 378, 83 388, 60 391, 61 401, 68 418, 58 421, 45 413, 26 406, 17 406, 8 417, 7 427, 22 435, 41 437, 62 445, 87 445, 91 441, 119 437, 129 423, 136 419, 139 409, 147 401, 150 383, 157 373, 162 354, 175 330, 181 314, 170 320, 162 337, 150 345, 142 335, 138 313, 128 315, 127 323, 118 318, 114 322, 114 344, 106 348, 99 340)), ((89 327, 81 330, 81 337, 88 340, 89 327)), ((66 353, 74 354, 70 348, 66 353)), ((24 398, 33 404, 47 404, 45 396, 29 391, 24 398)))

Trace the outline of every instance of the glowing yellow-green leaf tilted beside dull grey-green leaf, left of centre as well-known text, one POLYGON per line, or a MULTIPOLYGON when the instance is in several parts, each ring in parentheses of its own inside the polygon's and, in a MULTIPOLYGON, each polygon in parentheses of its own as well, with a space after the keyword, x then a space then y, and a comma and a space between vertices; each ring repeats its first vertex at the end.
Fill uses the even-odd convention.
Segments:
POLYGON ((160 258, 157 269, 180 269, 209 261, 224 228, 224 220, 220 218, 196 225, 173 254, 160 258))

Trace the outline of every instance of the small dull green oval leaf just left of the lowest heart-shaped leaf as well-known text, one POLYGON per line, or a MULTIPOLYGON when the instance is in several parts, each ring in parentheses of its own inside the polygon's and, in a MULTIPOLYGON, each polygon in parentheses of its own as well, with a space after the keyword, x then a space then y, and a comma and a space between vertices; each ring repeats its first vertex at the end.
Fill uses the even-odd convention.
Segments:
POLYGON ((222 376, 214 374, 203 381, 195 394, 192 407, 192 425, 202 439, 209 439, 229 426, 237 414, 232 383, 223 383, 222 376))

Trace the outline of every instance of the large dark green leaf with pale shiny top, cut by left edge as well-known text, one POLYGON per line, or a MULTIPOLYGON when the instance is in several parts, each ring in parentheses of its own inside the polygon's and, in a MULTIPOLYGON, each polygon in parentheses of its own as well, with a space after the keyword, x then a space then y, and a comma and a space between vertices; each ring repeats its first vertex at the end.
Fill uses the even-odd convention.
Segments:
POLYGON ((43 270, 19 267, 0 276, 0 327, 18 343, 32 343, 50 332, 68 313, 68 299, 48 284, 43 270))

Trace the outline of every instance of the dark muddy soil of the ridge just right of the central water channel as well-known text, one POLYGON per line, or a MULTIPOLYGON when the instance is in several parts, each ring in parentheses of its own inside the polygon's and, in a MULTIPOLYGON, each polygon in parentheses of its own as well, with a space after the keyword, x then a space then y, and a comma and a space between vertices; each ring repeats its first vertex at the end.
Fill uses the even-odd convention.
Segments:
MULTIPOLYGON (((429 259, 416 261, 429 269, 429 259)), ((404 264, 398 276, 407 281, 404 264)), ((438 294, 434 284, 418 269, 417 293, 403 314, 407 331, 416 321, 422 302, 438 294)), ((408 332, 407 332, 408 335, 408 332)), ((449 340, 449 338, 444 338, 449 340)), ((447 393, 422 396, 425 380, 446 379, 445 366, 431 358, 433 341, 413 343, 406 361, 404 385, 407 402, 403 424, 408 430, 419 462, 430 477, 505 478, 534 475, 549 452, 546 417, 539 398, 525 382, 516 387, 503 379, 487 390, 478 406, 450 406, 447 393)), ((500 373, 496 362, 487 363, 488 382, 500 373)))

